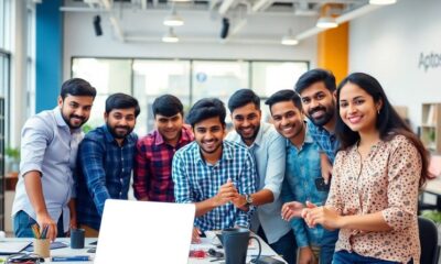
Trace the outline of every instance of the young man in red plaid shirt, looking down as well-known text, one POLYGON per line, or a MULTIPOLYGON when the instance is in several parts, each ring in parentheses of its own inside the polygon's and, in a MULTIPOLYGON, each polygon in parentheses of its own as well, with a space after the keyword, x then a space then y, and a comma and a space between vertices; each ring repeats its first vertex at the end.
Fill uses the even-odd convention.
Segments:
POLYGON ((184 125, 183 109, 171 95, 153 101, 157 130, 137 144, 133 190, 138 200, 174 202, 172 160, 179 148, 193 141, 191 129, 184 125))

